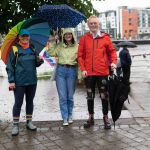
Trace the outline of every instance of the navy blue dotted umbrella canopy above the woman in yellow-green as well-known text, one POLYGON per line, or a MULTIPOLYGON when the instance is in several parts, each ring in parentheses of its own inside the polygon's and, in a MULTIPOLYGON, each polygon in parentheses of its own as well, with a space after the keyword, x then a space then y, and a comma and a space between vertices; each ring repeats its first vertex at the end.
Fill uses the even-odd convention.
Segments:
POLYGON ((35 16, 48 21, 53 29, 76 27, 81 21, 86 19, 82 13, 72 9, 66 4, 45 4, 39 8, 35 16))

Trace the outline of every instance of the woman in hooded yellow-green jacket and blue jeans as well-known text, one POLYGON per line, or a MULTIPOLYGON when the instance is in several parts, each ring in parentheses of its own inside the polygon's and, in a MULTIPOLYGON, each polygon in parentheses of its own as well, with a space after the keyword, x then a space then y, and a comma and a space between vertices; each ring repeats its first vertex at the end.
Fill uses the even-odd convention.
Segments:
POLYGON ((73 95, 77 79, 78 44, 75 35, 70 28, 64 29, 62 41, 58 44, 52 42, 52 38, 53 37, 50 39, 48 53, 51 56, 58 57, 55 80, 63 125, 67 126, 69 123, 73 122, 73 95))

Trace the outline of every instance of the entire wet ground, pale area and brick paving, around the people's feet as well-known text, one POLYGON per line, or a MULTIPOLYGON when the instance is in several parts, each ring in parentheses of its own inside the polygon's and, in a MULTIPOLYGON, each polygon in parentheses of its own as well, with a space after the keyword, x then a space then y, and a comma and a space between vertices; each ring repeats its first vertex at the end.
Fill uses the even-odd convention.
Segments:
POLYGON ((13 93, 8 92, 7 80, 0 78, 0 83, 3 88, 0 89, 0 150, 150 150, 148 82, 131 84, 130 104, 125 102, 128 110, 122 111, 115 129, 113 126, 111 130, 103 129, 101 102, 97 95, 95 125, 85 130, 83 123, 88 114, 83 87, 79 86, 75 94, 75 121, 63 127, 55 83, 41 80, 34 101, 34 124, 38 130, 31 132, 26 129, 23 106, 17 137, 11 136, 13 93))

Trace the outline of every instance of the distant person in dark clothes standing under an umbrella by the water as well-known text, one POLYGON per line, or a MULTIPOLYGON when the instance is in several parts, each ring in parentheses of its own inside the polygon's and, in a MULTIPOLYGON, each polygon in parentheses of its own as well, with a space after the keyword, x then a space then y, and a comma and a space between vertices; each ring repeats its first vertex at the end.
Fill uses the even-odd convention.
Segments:
POLYGON ((130 74, 131 74, 131 56, 129 53, 129 50, 126 46, 123 47, 123 49, 119 53, 121 68, 123 72, 123 81, 126 84, 130 84, 130 74))

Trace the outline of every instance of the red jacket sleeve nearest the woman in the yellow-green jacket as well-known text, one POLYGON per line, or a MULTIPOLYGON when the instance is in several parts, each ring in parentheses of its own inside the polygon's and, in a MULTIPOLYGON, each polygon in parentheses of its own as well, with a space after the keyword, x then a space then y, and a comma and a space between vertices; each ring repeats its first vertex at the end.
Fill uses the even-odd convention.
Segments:
POLYGON ((80 39, 80 42, 79 42, 79 47, 78 47, 78 63, 79 63, 79 66, 80 66, 80 69, 81 71, 84 71, 85 70, 85 37, 83 36, 81 39, 80 39))

